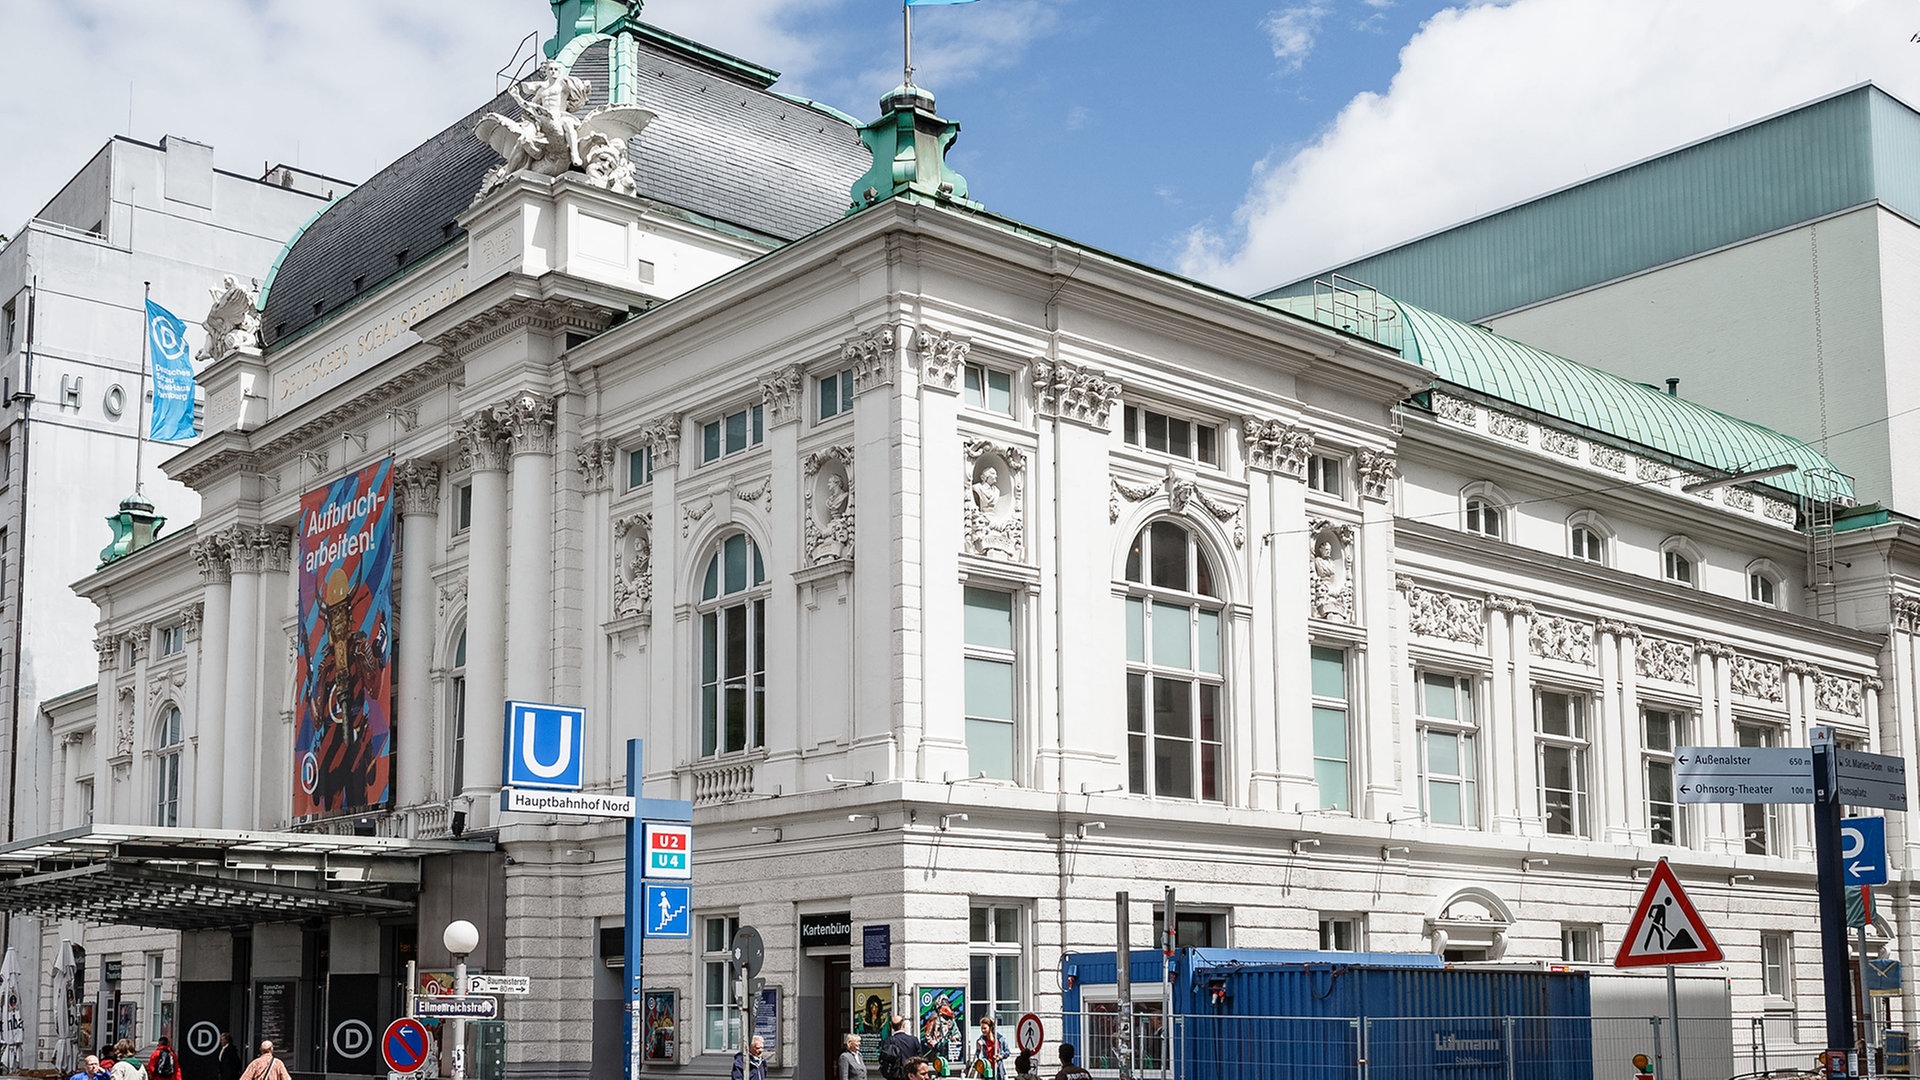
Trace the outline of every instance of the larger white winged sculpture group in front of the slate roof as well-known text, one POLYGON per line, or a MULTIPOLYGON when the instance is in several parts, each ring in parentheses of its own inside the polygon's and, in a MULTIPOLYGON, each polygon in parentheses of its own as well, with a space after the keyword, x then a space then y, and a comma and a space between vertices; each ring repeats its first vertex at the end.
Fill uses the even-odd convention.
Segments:
POLYGON ((626 142, 653 121, 653 111, 616 104, 578 115, 576 110, 588 104, 588 83, 557 60, 547 60, 507 92, 520 104, 524 119, 486 113, 474 125, 480 142, 505 158, 488 169, 474 204, 520 171, 541 177, 586 173, 595 186, 634 194, 634 161, 626 156, 626 142))

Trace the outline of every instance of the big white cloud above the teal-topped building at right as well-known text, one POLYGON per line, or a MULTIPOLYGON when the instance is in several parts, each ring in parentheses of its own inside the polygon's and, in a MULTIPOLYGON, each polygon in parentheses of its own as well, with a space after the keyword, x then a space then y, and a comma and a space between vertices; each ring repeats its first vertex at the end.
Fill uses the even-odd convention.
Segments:
MULTIPOLYGON (((1382 94, 1254 167, 1183 273, 1260 290, 1830 94, 1920 104, 1903 0, 1513 0, 1436 13, 1382 94)), ((1279 50, 1277 50, 1279 52, 1279 50)))

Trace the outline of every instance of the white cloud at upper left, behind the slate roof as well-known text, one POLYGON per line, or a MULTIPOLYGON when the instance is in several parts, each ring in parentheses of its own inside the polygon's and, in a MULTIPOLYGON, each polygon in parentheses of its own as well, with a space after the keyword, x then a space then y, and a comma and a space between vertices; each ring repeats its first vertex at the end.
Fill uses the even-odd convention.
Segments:
MULTIPOLYGON (((645 13, 783 69, 785 86, 824 65, 828 37, 795 27, 843 4, 651 0, 645 13)), ((13 46, 0 233, 113 135, 211 142, 215 165, 244 175, 271 160, 365 179, 493 96, 493 73, 536 31, 534 48, 553 35, 540 0, 461 0, 451 19, 445 6, 374 0, 0 2, 13 46)))

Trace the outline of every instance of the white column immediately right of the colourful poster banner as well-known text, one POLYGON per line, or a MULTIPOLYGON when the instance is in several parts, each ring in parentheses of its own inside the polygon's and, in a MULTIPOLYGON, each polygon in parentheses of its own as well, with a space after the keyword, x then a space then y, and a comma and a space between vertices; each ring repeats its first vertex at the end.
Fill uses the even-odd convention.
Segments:
POLYGON ((440 465, 394 467, 399 492, 399 709, 394 726, 394 794, 401 807, 426 801, 432 767, 434 540, 440 536, 440 465))

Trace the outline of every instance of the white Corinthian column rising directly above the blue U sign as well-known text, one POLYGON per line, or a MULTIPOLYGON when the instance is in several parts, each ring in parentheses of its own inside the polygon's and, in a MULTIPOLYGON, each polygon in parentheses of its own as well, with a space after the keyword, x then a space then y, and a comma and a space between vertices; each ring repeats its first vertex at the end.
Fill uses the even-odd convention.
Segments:
POLYGON ((553 655, 553 398, 522 390, 495 405, 493 417, 513 454, 507 698, 545 701, 553 655))

